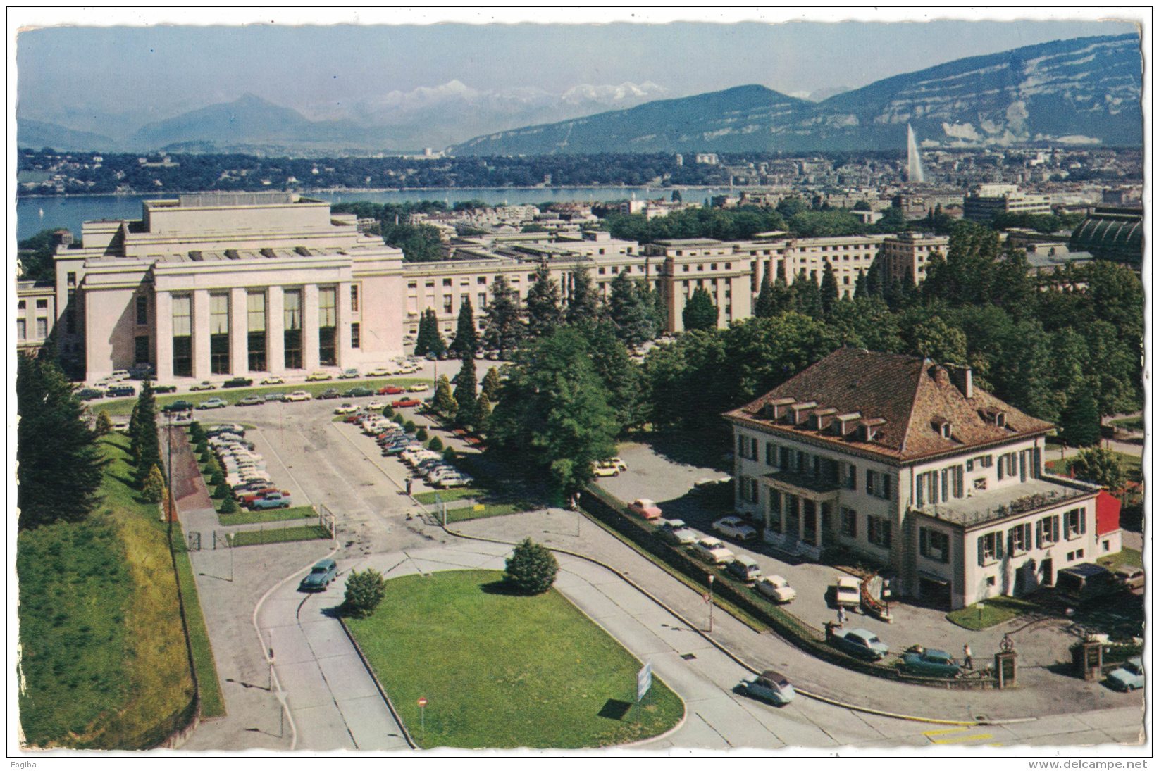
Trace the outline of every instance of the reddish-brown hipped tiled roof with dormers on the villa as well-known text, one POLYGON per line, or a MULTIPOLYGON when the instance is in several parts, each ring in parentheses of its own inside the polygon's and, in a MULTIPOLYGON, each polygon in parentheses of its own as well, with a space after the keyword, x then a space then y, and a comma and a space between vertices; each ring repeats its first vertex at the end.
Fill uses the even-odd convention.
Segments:
MULTIPOLYGON (((793 414, 792 407, 786 411, 793 414)), ((928 359, 852 347, 838 348, 724 417, 898 461, 1041 434, 1052 427, 977 386, 967 398, 949 370, 928 359), (773 419, 764 409, 766 403, 782 399, 783 404, 787 398, 816 402, 821 410, 836 407, 843 416, 860 413, 857 423, 874 426, 875 435, 866 441, 862 431, 855 429, 841 436, 834 431, 837 421, 831 414, 825 418, 829 426, 817 429, 809 420, 794 425, 787 419, 773 419), (1003 413, 1005 425, 996 425, 996 413, 1003 413), (946 423, 948 439, 942 435, 946 423)))

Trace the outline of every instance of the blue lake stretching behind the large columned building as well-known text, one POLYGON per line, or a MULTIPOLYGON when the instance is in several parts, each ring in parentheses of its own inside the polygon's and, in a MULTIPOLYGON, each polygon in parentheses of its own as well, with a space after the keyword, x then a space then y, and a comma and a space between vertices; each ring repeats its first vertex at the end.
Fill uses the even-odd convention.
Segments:
MULTIPOLYGON (((688 203, 705 203, 712 196, 727 193, 728 188, 680 189, 688 203)), ((401 204, 408 200, 440 200, 455 204, 461 200, 482 200, 491 206, 503 204, 542 204, 546 201, 607 201, 671 198, 668 189, 650 188, 444 188, 429 190, 374 190, 367 192, 309 192, 335 204, 366 200, 374 204, 401 204)), ((52 198, 20 198, 16 200, 16 240, 22 241, 41 230, 68 228, 80 238, 80 226, 86 220, 129 219, 141 215, 141 201, 173 198, 174 193, 136 196, 57 196, 52 198)))

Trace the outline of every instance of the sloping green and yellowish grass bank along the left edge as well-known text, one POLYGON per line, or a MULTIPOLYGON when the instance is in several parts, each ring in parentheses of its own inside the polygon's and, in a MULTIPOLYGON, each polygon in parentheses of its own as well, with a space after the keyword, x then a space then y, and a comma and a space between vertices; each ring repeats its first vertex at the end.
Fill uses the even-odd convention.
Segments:
MULTIPOLYGON (((19 537, 20 719, 31 746, 144 749, 188 717, 194 684, 167 527, 130 486, 127 445, 101 440, 110 463, 88 520, 19 537)), ((201 618, 196 588, 182 589, 201 618)), ((216 689, 212 670, 198 677, 216 689)))

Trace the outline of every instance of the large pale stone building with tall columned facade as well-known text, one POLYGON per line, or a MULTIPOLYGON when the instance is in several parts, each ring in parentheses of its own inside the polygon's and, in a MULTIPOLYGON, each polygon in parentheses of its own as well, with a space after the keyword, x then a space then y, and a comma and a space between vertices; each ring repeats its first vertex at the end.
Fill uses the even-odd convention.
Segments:
POLYGON ((86 379, 360 367, 402 353, 402 252, 291 193, 201 193, 58 249, 58 346, 86 379), (373 298, 372 302, 364 299, 373 298))

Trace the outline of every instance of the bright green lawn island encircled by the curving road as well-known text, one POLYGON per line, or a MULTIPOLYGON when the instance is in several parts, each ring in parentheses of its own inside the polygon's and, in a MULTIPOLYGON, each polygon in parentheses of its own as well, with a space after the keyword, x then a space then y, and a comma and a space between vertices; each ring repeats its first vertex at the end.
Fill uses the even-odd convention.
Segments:
POLYGON ((398 578, 373 616, 347 622, 421 747, 608 747, 680 720, 683 703, 655 676, 632 706, 640 661, 561 594, 505 594, 501 578, 398 578))

